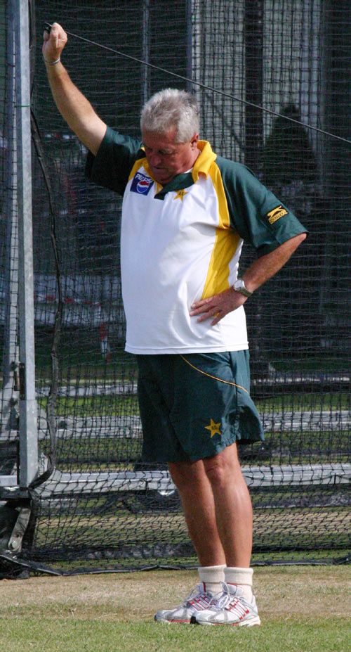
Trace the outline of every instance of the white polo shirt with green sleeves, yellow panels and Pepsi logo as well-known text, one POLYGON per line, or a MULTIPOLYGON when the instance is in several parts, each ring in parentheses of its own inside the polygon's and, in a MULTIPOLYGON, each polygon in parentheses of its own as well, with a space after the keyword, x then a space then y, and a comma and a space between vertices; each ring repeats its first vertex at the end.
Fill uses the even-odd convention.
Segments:
POLYGON ((246 167, 199 141, 190 172, 161 186, 138 139, 108 128, 86 172, 123 195, 121 281, 126 351, 136 354, 248 348, 244 307, 216 326, 190 317, 194 301, 237 279, 243 242, 258 255, 306 231, 246 167))

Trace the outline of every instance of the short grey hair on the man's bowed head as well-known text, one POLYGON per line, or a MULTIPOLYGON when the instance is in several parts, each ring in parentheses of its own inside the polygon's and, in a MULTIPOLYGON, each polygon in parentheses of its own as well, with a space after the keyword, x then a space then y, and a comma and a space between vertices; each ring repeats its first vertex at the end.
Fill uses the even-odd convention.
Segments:
POLYGON ((176 142, 186 143, 199 133, 199 107, 194 95, 164 89, 150 97, 141 111, 142 132, 166 134, 176 127, 176 142))

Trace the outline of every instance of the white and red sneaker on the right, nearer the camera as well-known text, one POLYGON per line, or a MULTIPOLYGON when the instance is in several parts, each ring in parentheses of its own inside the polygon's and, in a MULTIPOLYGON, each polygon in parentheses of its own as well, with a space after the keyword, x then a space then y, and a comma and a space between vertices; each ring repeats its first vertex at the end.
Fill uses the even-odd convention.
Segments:
POLYGON ((209 608, 194 613, 191 622, 198 625, 234 625, 237 627, 253 627, 260 625, 256 599, 248 602, 243 597, 242 589, 232 585, 223 584, 223 594, 216 599, 209 608))

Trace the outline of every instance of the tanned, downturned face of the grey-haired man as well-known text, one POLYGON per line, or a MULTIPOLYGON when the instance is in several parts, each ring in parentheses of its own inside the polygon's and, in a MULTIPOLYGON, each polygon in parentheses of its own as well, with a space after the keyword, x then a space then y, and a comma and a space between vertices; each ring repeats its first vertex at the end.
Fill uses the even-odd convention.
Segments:
POLYGON ((176 129, 166 134, 143 132, 145 155, 152 176, 165 186, 180 172, 186 172, 194 165, 199 150, 197 141, 199 134, 194 134, 187 143, 176 143, 176 129))

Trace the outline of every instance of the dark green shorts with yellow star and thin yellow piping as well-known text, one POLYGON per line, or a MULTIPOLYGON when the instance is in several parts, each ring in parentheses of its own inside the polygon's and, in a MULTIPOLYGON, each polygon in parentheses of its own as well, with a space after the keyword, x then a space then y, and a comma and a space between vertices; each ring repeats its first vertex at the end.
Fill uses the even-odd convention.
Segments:
POLYGON ((248 350, 136 357, 143 461, 196 461, 264 440, 248 350))

